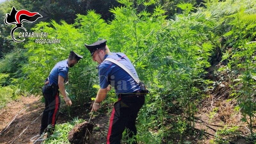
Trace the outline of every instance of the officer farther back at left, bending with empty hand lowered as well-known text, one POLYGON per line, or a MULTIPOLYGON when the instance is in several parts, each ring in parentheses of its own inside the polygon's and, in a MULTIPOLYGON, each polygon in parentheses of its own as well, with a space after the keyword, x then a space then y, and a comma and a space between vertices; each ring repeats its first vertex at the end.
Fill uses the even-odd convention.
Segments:
POLYGON ((52 134, 54 127, 59 115, 60 108, 60 96, 59 93, 63 95, 63 98, 68 106, 72 105, 71 100, 68 98, 65 91, 64 83, 68 81, 68 68, 73 67, 78 60, 82 59, 83 56, 71 51, 68 59, 58 62, 46 78, 43 87, 43 95, 45 99, 45 108, 41 120, 41 128, 39 134, 43 132, 48 132, 52 134), (59 91, 60 90, 60 91, 59 91), (47 129, 47 126, 51 125, 51 129, 47 129))

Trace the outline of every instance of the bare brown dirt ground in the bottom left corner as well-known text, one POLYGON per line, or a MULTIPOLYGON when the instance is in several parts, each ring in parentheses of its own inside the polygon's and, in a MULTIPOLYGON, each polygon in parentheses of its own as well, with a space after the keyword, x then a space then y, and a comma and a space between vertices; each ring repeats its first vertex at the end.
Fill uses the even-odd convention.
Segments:
POLYGON ((21 97, 20 100, 9 103, 0 111, 0 131, 2 132, 15 116, 16 118, 1 133, 0 143, 30 143, 30 138, 39 133, 41 124, 40 114, 43 112, 43 109, 44 104, 40 102, 39 97, 34 96, 21 97))

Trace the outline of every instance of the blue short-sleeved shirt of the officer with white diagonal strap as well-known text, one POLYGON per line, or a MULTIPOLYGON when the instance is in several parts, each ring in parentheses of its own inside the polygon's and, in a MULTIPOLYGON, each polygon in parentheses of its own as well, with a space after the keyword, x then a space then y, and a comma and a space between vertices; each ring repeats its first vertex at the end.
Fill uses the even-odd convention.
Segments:
MULTIPOLYGON (((104 59, 112 58, 122 63, 126 68, 136 76, 137 72, 131 61, 124 53, 110 52, 105 55, 104 59)), ((133 93, 140 91, 140 86, 135 80, 122 68, 110 61, 103 61, 98 66, 100 88, 107 88, 108 84, 115 88, 116 94, 133 93)))

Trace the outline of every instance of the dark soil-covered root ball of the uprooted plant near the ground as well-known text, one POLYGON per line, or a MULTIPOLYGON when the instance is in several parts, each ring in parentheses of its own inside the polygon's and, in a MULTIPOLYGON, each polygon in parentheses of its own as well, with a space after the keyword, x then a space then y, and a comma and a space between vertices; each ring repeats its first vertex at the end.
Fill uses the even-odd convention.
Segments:
POLYGON ((69 133, 68 141, 71 144, 87 144, 90 142, 93 124, 87 122, 77 124, 69 133))

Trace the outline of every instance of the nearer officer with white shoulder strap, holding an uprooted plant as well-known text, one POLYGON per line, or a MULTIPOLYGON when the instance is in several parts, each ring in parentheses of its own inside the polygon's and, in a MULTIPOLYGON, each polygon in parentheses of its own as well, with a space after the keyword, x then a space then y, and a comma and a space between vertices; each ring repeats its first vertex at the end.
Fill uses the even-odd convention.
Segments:
MULTIPOLYGON (((100 90, 92 105, 92 111, 97 111, 100 108, 100 102, 107 95, 108 85, 114 87, 118 101, 114 104, 110 117, 107 144, 120 144, 125 128, 128 130, 129 138, 137 134, 135 122, 138 112, 144 104, 145 97, 141 93, 140 85, 123 68, 105 60, 107 58, 117 60, 138 78, 136 70, 128 57, 124 53, 110 52, 106 42, 107 40, 101 40, 91 45, 85 44, 91 52, 93 61, 97 61, 99 64, 97 68, 100 90)), ((136 140, 133 141, 133 144, 135 143, 137 143, 136 140)))

